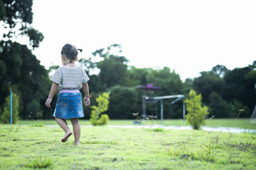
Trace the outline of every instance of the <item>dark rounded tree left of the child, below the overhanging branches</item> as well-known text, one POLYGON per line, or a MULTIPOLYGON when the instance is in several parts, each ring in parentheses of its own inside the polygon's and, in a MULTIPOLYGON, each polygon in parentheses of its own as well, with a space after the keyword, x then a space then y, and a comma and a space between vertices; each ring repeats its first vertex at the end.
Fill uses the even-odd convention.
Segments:
MULTIPOLYGON (((40 103, 41 109, 46 113, 45 96, 47 96, 49 90, 47 88, 51 86, 51 81, 47 70, 40 65, 40 61, 26 45, 16 42, 10 46, 4 46, 0 56, 2 60, 5 60, 5 66, 8 67, 0 73, 0 77, 3 77, 6 87, 10 83, 13 91, 20 96, 20 117, 28 118, 30 111, 26 107, 33 99, 36 99, 38 104, 40 103)), ((9 90, 6 89, 5 93, 8 94, 9 90)))

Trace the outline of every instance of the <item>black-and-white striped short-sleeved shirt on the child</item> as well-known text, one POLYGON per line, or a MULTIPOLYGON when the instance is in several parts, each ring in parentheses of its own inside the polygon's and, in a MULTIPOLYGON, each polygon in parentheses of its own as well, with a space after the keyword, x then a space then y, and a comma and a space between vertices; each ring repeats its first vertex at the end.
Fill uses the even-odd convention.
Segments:
POLYGON ((51 81, 59 85, 60 89, 81 89, 82 83, 86 83, 90 78, 82 67, 59 67, 51 77, 51 81))

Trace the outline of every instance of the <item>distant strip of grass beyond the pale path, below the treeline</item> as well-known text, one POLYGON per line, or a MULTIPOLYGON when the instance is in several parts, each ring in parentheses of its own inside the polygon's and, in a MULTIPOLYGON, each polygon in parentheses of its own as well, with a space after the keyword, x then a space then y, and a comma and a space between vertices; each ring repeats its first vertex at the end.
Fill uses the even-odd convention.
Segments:
MULTIPOLYGON (((108 125, 132 125, 134 120, 110 120, 108 125)), ((148 121, 150 125, 161 124, 160 120, 148 121)), ((20 120, 22 125, 56 125, 55 120, 20 120)), ((70 124, 70 121, 68 121, 70 124)), ((81 125, 91 125, 89 120, 80 120, 81 125)), ((187 125, 182 119, 168 119, 163 121, 164 125, 187 125)), ((206 120, 206 125, 209 127, 240 127, 243 129, 256 129, 256 124, 250 124, 250 118, 239 119, 212 119, 206 120)))

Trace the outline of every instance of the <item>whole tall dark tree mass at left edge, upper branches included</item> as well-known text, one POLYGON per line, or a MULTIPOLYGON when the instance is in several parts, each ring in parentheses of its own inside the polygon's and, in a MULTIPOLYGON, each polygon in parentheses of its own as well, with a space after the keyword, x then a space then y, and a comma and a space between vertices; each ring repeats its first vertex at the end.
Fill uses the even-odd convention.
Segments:
POLYGON ((47 83, 45 82, 47 81, 45 78, 47 71, 40 66, 40 61, 29 50, 29 48, 38 47, 44 39, 41 32, 31 27, 33 21, 32 4, 32 0, 0 1, 0 28, 4 30, 3 38, 0 41, 1 110, 3 110, 5 103, 3 99, 8 96, 10 87, 19 94, 20 106, 22 106, 20 111, 23 113, 26 110, 24 103, 28 103, 31 99, 38 99, 39 102, 42 99, 42 94, 44 94, 42 91, 44 91, 44 85, 47 83), (16 42, 19 36, 29 39, 29 48, 16 42), (37 87, 38 89, 36 89, 37 87), (41 92, 36 93, 38 90, 41 92))

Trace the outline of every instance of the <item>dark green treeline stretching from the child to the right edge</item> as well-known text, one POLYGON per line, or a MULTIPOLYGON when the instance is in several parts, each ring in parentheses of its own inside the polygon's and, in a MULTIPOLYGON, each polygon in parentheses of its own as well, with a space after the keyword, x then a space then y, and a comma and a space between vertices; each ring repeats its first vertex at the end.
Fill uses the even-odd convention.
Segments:
MULTIPOLYGON (((202 95, 202 104, 209 107, 209 117, 235 118, 238 110, 245 111, 239 117, 250 117, 256 99, 256 61, 247 67, 227 69, 217 65, 211 71, 202 71, 200 76, 182 82, 179 74, 169 67, 161 69, 136 68, 128 66, 128 60, 122 56, 120 45, 111 45, 92 53, 88 60, 80 60, 88 73, 99 69, 99 74, 90 74, 90 89, 93 94, 111 92, 109 103, 110 118, 133 118, 132 113, 142 112, 142 96, 168 96, 185 94, 194 89, 202 95), (117 50, 116 50, 117 48, 117 50), (115 50, 113 50, 115 49, 115 50), (113 52, 119 51, 115 55, 113 52), (100 57, 100 62, 92 62, 93 57, 100 57), (138 89, 153 83, 161 90, 145 92, 138 89)), ((92 101, 93 102, 93 101, 92 101)), ((164 118, 182 118, 182 101, 171 104, 171 99, 164 100, 164 118)), ((90 112, 90 107, 88 108, 90 112)), ((148 104, 148 115, 160 116, 160 104, 148 104)))

